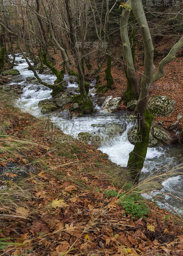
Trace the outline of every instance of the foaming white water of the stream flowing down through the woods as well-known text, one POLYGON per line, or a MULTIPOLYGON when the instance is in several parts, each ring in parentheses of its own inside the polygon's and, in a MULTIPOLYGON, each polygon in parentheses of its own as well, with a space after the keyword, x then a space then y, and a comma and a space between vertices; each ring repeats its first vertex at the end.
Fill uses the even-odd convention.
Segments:
MULTIPOLYGON (((20 75, 16 76, 15 79, 13 78, 11 84, 22 84, 25 86, 23 94, 21 98, 17 100, 16 104, 23 111, 28 111, 34 116, 42 116, 38 102, 51 98, 51 90, 40 84, 40 90, 38 90, 38 85, 31 84, 31 82, 26 83, 26 77, 33 76, 33 72, 28 70, 28 65, 25 60, 22 60, 22 55, 17 54, 16 61, 18 62, 18 66, 15 68, 19 70, 20 75)), ((54 75, 48 74, 39 76, 43 81, 49 84, 53 84, 56 78, 54 75)), ((69 75, 66 74, 64 78, 69 79, 69 75)), ((91 86, 94 87, 94 82, 91 83, 91 86)), ((67 89, 73 91, 76 88, 78 88, 77 84, 69 83, 67 89)), ((63 116, 59 111, 55 111, 47 116, 55 122, 65 134, 70 134, 75 138, 77 138, 79 132, 102 135, 105 139, 101 143, 99 150, 106 153, 112 162, 121 166, 127 166, 128 154, 134 147, 128 141, 127 131, 134 123, 128 121, 126 113, 109 114, 104 112, 102 107, 97 105, 95 94, 91 93, 91 95, 94 106, 98 111, 96 114, 84 115, 72 119, 70 116, 63 116), (100 124, 102 127, 93 127, 91 124, 100 124), (109 124, 120 125, 123 133, 113 136, 110 132, 106 132, 105 125, 109 124)), ((148 148, 140 180, 149 180, 156 176, 155 180, 163 185, 163 188, 159 191, 183 199, 182 163, 183 155, 182 147, 180 146, 165 145, 163 147, 148 148)), ((183 214, 183 201, 167 194, 149 192, 149 194, 143 194, 143 196, 148 198, 154 198, 156 196, 156 201, 161 207, 168 208, 170 205, 172 209, 183 214)), ((170 210, 171 208, 168 209, 170 210)))

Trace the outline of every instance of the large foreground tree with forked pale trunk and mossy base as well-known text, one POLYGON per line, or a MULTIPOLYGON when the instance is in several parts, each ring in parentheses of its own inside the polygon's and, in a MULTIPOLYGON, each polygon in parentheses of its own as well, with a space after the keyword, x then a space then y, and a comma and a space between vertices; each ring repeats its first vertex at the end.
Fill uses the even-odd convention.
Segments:
POLYGON ((143 163, 147 154, 149 143, 150 127, 153 121, 153 115, 150 113, 147 101, 149 97, 149 84, 156 82, 165 74, 165 65, 175 59, 178 50, 183 46, 183 36, 172 47, 168 55, 161 60, 158 65, 158 70, 155 73, 155 66, 153 64, 154 47, 150 35, 150 29, 145 17, 143 4, 141 0, 128 0, 121 4, 121 40, 123 43, 123 54, 126 59, 127 73, 132 84, 133 94, 137 100, 135 114, 137 117, 137 133, 135 136, 135 146, 132 152, 129 153, 128 169, 131 177, 138 182, 140 171, 143 168, 143 163), (144 72, 141 84, 138 84, 138 77, 135 72, 131 45, 128 37, 128 21, 130 12, 133 12, 136 22, 141 31, 144 44, 144 72), (155 73, 155 74, 154 74, 155 73), (140 95, 139 95, 140 89, 140 95), (139 140, 141 138, 141 140, 139 140))

